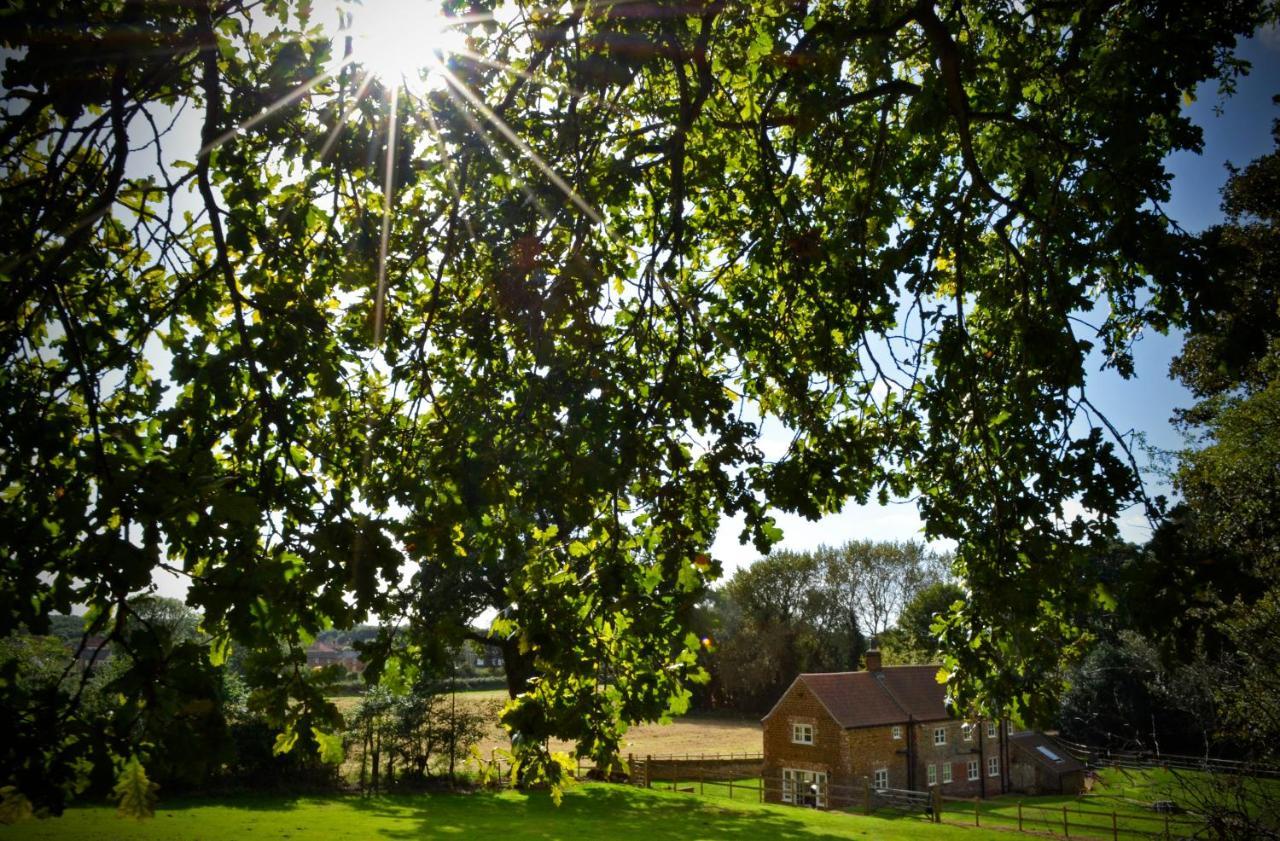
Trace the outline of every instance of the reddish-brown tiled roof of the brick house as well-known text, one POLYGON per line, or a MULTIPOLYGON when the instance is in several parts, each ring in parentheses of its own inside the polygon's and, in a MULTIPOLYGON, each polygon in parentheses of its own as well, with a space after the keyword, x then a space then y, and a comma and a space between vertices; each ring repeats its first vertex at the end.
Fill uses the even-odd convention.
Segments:
POLYGON ((890 666, 877 672, 801 675, 797 680, 849 730, 951 718, 937 675, 937 666, 890 666))

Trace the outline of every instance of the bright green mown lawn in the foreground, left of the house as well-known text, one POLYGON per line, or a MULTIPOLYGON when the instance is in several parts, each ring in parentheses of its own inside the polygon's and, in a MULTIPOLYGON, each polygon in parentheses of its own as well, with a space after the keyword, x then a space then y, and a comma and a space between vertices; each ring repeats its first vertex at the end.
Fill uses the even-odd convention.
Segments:
POLYGON ((545 792, 435 794, 361 799, 243 796, 161 803, 154 819, 115 817, 110 806, 69 809, 61 818, 0 827, 0 840, 59 841, 289 838, 877 838, 977 841, 972 829, 918 818, 864 818, 590 783, 571 789, 559 808, 545 792))

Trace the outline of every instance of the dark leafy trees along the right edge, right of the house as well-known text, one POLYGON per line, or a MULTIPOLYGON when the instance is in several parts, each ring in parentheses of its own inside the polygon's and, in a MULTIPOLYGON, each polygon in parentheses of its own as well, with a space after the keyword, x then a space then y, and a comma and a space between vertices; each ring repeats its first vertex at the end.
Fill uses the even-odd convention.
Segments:
MULTIPOLYGON (((1189 445, 1172 479, 1183 502, 1146 547, 1096 558, 1114 609, 1094 618, 1101 641, 1073 673, 1062 726, 1074 737, 1276 758, 1277 178, 1280 151, 1233 172, 1228 219, 1202 237, 1213 283, 1192 301, 1171 366, 1198 398, 1179 412, 1189 445)), ((1204 806, 1224 827, 1249 819, 1231 814, 1230 790, 1224 782, 1222 803, 1204 806)))

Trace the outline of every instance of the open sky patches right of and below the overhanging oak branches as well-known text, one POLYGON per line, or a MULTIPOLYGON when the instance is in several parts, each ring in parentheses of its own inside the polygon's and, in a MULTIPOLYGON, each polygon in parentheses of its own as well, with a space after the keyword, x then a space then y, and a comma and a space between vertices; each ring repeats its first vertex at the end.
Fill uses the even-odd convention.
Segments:
MULTIPOLYGON (((1239 56, 1253 64, 1248 77, 1239 81, 1235 95, 1222 101, 1215 86, 1197 91, 1197 100, 1187 109, 1204 133, 1204 150, 1196 155, 1171 155, 1167 166, 1174 175, 1172 195, 1166 206, 1171 218, 1192 232, 1221 221, 1220 191, 1226 183, 1226 164, 1248 164, 1274 147, 1271 123, 1280 118, 1280 108, 1271 97, 1280 93, 1280 31, 1271 28, 1240 45, 1239 56), (1221 115, 1215 113, 1221 106, 1221 115)), ((1091 360, 1088 390, 1094 404, 1103 411, 1121 433, 1135 430, 1151 445, 1176 449, 1181 437, 1170 424, 1174 410, 1190 404, 1188 392, 1169 379, 1169 362, 1181 347, 1181 335, 1148 333, 1134 347, 1137 376, 1124 380, 1114 371, 1103 371, 1102 357, 1091 360)), ((1144 460, 1143 462, 1144 463, 1144 460)), ((1169 493, 1158 476, 1148 476, 1151 493, 1169 493)), ((913 503, 887 507, 850 504, 838 515, 809 522, 801 517, 774 513, 791 549, 810 549, 818 544, 845 540, 908 540, 922 539, 922 524, 913 503)), ((750 545, 740 545, 741 521, 726 521, 717 534, 712 554, 722 561, 726 573, 758 557, 750 545)), ((1133 511, 1121 521, 1121 534, 1133 541, 1146 541, 1149 529, 1140 512, 1133 511)), ((941 545, 938 548, 947 548, 941 545)))

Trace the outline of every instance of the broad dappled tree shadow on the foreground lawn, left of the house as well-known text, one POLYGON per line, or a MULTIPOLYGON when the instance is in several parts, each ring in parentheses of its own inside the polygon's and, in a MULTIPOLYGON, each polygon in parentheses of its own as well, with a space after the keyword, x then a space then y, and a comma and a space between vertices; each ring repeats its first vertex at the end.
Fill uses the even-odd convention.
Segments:
POLYGON ((687 796, 655 796, 625 787, 572 789, 556 806, 545 792, 388 796, 352 801, 385 822, 385 838, 837 838, 773 809, 721 806, 687 796), (406 823, 407 822, 407 823, 406 823))

